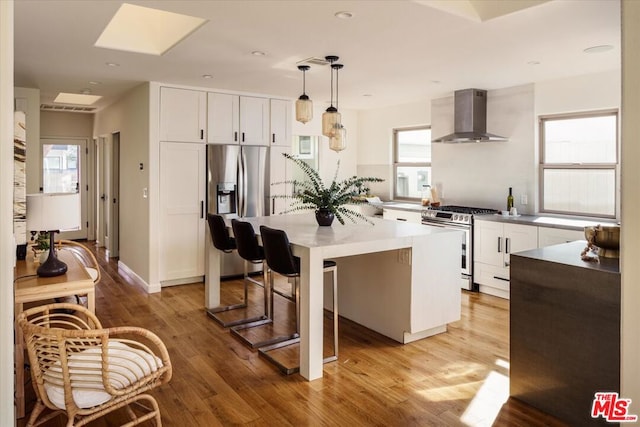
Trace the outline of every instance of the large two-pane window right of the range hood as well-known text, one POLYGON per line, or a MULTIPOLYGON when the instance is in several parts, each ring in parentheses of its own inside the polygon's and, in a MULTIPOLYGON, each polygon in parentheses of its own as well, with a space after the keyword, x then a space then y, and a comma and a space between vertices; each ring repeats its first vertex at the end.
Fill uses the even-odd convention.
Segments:
POLYGON ((618 113, 540 118, 540 210, 616 216, 618 113))

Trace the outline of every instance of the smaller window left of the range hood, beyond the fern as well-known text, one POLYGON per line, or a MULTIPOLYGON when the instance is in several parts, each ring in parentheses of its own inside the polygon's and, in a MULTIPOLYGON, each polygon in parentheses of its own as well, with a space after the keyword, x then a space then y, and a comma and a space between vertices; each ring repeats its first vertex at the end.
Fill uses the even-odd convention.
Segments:
POLYGON ((393 130, 393 198, 419 200, 431 185, 431 127, 393 130))

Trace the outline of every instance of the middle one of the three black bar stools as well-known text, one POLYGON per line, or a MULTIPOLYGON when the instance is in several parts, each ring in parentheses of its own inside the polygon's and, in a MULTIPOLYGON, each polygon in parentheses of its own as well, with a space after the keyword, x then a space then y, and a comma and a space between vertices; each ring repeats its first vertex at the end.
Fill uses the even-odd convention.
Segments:
POLYGON ((271 344, 275 344, 281 341, 285 341, 291 339, 292 337, 289 335, 286 336, 278 336, 274 338, 269 338, 264 341, 253 342, 247 339, 244 335, 240 333, 240 331, 244 331, 245 329, 254 328, 256 326, 261 326, 265 324, 273 323, 272 320, 272 307, 271 299, 273 295, 271 293, 271 289, 269 288, 269 282, 267 280, 267 264, 264 262, 264 250, 258 244, 258 239, 256 237, 256 233, 253 229, 251 223, 246 221, 239 221, 237 219, 231 220, 231 228, 233 229, 233 235, 235 238, 236 246, 238 249, 238 255, 242 259, 244 259, 244 280, 255 283, 259 286, 263 286, 262 283, 252 279, 248 275, 249 264, 262 264, 263 268, 263 282, 264 282, 264 315, 253 322, 244 323, 242 325, 234 326, 231 328, 231 334, 242 340, 245 344, 250 346, 251 348, 263 347, 271 344), (271 311, 270 311, 271 309, 271 311))

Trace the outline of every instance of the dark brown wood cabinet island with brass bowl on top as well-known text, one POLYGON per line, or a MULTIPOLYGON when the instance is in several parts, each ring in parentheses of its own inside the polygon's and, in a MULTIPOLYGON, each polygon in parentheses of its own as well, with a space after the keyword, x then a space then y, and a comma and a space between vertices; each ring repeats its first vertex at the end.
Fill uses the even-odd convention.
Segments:
POLYGON ((620 391, 620 269, 583 261, 586 245, 511 254, 510 395, 569 425, 610 425, 591 405, 620 391))

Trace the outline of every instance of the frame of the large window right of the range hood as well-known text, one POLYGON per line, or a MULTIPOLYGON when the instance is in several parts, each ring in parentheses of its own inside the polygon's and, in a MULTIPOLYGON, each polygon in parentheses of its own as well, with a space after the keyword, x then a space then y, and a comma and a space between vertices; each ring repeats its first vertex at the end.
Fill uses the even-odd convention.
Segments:
POLYGON ((619 206, 619 191, 620 185, 620 112, 618 109, 607 110, 595 110, 587 112, 576 113, 564 113, 564 114, 549 114, 541 115, 538 118, 538 133, 540 141, 540 159, 538 165, 538 178, 539 178, 539 192, 538 203, 540 206, 539 211, 547 214, 557 215, 571 215, 581 216, 588 218, 617 218, 618 206, 619 206), (614 116, 616 120, 615 126, 615 161, 613 163, 545 163, 545 123, 554 120, 569 120, 569 119, 584 119, 590 117, 605 117, 614 116), (574 212, 574 211, 560 211, 554 209, 545 209, 544 206, 544 172, 545 170, 553 169, 573 169, 573 170, 612 170, 614 173, 614 186, 613 186, 613 214, 592 214, 587 212, 574 212))

